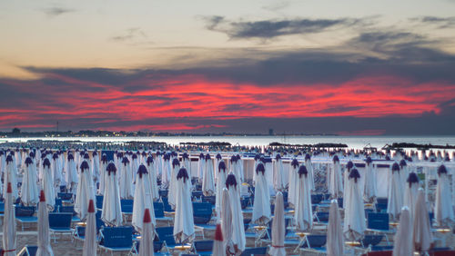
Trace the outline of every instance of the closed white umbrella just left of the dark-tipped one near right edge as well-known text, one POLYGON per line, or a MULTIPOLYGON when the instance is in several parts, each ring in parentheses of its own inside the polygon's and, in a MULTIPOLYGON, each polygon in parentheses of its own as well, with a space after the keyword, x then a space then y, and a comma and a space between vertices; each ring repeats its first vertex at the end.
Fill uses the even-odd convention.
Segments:
POLYGON ((399 212, 403 206, 403 187, 401 174, 399 173, 399 164, 394 162, 391 167, 391 179, 389 179, 387 213, 391 215, 392 220, 397 220, 399 212))

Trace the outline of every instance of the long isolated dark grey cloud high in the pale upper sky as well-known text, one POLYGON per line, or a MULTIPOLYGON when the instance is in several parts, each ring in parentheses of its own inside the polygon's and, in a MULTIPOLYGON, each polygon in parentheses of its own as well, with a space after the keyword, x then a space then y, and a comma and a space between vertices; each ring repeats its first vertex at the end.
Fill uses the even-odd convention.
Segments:
POLYGON ((366 19, 283 19, 262 21, 229 21, 223 16, 204 18, 208 30, 225 33, 231 39, 271 39, 289 34, 314 34, 329 28, 346 28, 354 25, 367 25, 366 19))

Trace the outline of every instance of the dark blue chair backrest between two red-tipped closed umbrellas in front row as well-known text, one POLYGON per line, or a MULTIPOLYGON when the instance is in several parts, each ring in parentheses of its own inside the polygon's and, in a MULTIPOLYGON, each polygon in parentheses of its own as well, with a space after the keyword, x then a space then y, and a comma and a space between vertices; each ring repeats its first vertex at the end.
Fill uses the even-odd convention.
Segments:
POLYGON ((133 227, 105 227, 102 244, 109 248, 127 248, 133 246, 133 227))

